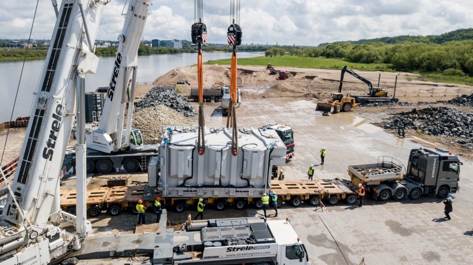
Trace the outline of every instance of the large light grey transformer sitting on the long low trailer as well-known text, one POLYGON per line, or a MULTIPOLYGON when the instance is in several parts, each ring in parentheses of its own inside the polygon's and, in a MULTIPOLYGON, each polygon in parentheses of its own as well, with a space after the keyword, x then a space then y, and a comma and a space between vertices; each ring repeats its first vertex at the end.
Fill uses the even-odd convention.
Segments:
POLYGON ((239 129, 233 156, 231 128, 206 128, 205 153, 197 127, 166 127, 160 146, 159 190, 164 197, 261 197, 272 166, 284 165, 286 146, 272 129, 239 129))

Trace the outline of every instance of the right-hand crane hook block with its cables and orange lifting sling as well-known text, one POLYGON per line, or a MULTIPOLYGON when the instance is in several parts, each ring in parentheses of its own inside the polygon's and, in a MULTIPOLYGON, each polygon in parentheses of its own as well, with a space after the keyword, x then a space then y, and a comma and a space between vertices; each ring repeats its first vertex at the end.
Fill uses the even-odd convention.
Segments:
POLYGON ((231 154, 238 155, 238 127, 237 127, 237 45, 242 42, 242 30, 240 22, 240 0, 230 0, 231 25, 228 27, 228 45, 232 46, 230 65, 230 102, 228 105, 228 117, 226 127, 231 130, 231 154))

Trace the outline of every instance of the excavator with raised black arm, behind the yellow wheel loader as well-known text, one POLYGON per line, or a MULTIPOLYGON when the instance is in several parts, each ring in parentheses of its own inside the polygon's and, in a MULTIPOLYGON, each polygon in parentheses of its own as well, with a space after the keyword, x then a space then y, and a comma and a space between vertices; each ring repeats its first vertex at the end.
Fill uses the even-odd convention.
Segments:
POLYGON ((368 85, 368 93, 366 95, 351 95, 351 97, 355 98, 356 103, 373 103, 373 102, 388 102, 388 101, 397 101, 397 98, 390 98, 387 96, 387 91, 381 88, 374 88, 373 85, 369 80, 360 76, 359 74, 355 73, 352 69, 348 66, 344 66, 342 68, 342 74, 340 76, 340 85, 339 85, 339 92, 342 91, 343 86, 343 77, 345 76, 345 72, 353 75, 354 77, 360 79, 364 83, 368 85))

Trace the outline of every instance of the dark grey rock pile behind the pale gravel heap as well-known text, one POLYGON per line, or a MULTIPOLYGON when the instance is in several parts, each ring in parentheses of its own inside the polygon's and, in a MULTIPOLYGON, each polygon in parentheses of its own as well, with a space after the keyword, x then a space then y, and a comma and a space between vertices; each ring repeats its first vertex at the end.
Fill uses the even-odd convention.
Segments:
POLYGON ((197 112, 189 106, 186 98, 176 92, 174 86, 155 86, 140 101, 135 103, 134 112, 141 109, 166 105, 184 116, 195 116, 197 112))

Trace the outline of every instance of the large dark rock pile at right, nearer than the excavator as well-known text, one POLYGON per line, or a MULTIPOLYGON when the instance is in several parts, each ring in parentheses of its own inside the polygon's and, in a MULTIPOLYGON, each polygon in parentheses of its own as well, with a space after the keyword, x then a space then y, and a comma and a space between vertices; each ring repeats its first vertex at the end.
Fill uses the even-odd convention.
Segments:
POLYGON ((383 127, 397 129, 404 125, 406 129, 419 129, 426 135, 458 137, 473 140, 473 113, 462 112, 449 107, 427 107, 402 112, 392 117, 383 127))

